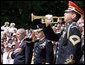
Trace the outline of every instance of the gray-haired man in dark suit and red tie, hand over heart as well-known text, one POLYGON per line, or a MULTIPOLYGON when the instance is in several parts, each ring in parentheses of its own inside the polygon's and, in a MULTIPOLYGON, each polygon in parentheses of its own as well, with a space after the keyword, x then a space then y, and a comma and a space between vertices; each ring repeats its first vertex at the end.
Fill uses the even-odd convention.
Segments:
POLYGON ((11 55, 14 58, 14 64, 30 64, 33 50, 32 39, 25 38, 26 31, 24 29, 18 29, 16 35, 18 43, 11 55))

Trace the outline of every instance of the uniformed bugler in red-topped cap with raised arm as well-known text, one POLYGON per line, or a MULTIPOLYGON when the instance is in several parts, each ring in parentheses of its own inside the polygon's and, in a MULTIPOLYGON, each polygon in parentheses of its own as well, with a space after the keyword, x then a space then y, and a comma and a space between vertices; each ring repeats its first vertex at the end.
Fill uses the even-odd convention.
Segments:
POLYGON ((57 64, 79 64, 81 33, 76 22, 81 15, 84 15, 84 12, 72 1, 69 1, 69 8, 64 13, 64 20, 67 25, 61 33, 55 34, 49 23, 46 23, 46 27, 43 28, 47 39, 59 41, 57 64))

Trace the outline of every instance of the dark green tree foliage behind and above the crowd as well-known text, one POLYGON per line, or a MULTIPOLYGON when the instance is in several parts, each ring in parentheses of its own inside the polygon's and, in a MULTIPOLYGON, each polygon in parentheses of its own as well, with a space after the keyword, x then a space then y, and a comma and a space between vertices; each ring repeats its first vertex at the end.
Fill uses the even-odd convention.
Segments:
MULTIPOLYGON (((84 1, 73 2, 84 10, 84 1)), ((35 28, 38 22, 31 23, 31 13, 63 16, 67 8, 68 1, 1 1, 1 25, 9 21, 15 22, 17 28, 35 28)))

